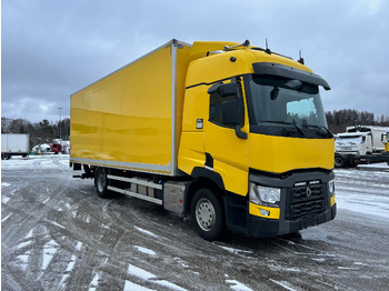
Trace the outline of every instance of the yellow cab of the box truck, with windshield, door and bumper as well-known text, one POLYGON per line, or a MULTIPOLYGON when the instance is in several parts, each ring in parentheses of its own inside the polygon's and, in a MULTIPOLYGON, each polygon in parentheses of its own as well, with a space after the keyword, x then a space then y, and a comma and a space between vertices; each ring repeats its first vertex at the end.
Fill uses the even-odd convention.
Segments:
MULTIPOLYGON (((256 48, 190 63, 178 165, 196 190, 215 189, 229 230, 272 237, 335 218, 333 136, 319 87, 330 89, 302 63, 256 48)), ((207 191, 193 199, 207 235, 218 222, 202 209, 216 207, 207 191)))

